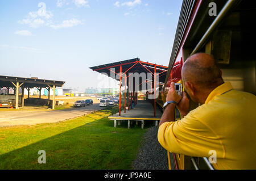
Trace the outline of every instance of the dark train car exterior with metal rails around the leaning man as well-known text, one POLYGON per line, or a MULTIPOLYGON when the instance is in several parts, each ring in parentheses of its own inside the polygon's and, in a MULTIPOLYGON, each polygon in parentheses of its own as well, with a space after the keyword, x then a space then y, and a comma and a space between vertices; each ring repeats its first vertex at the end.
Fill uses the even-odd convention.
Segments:
MULTIPOLYGON (((234 89, 256 94, 255 1, 184 0, 172 47, 169 69, 156 103, 163 108, 171 82, 182 83, 181 68, 194 53, 212 54, 224 81, 234 89)), ((184 91, 184 90, 183 90, 184 91)), ((190 101, 189 110, 199 104, 190 101)), ((176 120, 181 119, 176 110, 176 120)), ((208 158, 168 153, 169 169, 216 169, 208 158)))

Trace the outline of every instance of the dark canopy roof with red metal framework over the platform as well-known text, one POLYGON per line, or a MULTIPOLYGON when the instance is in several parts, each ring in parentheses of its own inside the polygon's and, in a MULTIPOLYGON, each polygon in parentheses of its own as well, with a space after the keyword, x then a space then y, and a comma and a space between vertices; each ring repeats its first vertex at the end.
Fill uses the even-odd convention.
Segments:
MULTIPOLYGON (((126 73, 127 82, 129 81, 129 73, 138 73, 138 74, 146 73, 146 75, 147 73, 150 73, 153 78, 154 78, 154 73, 156 74, 158 73, 159 85, 163 85, 164 80, 166 78, 168 66, 157 65, 150 62, 141 61, 139 58, 133 58, 130 60, 124 60, 124 61, 113 62, 110 64, 93 66, 90 69, 92 69, 93 71, 97 71, 98 73, 107 74, 108 77, 111 77, 113 73, 115 73, 115 75, 116 74, 119 75, 121 70, 121 73, 126 73)), ((123 76, 122 76, 122 79, 123 79, 123 76)), ((150 80, 148 79, 146 81, 150 82, 150 80)), ((143 82, 140 82, 140 83, 143 83, 143 82)))

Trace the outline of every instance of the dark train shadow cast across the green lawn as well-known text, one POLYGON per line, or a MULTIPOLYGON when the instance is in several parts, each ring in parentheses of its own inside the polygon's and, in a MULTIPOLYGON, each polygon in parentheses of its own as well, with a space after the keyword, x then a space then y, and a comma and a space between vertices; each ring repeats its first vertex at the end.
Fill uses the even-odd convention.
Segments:
POLYGON ((0 169, 132 169, 144 131, 114 128, 104 117, 0 155, 0 169), (38 163, 39 150, 46 164, 38 163))

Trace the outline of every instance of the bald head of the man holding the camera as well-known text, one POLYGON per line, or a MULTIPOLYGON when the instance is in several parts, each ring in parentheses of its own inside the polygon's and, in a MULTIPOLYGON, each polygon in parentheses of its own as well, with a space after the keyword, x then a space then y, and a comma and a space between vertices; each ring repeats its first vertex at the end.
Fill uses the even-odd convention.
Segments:
POLYGON ((196 53, 188 57, 182 67, 181 76, 183 82, 189 81, 205 89, 213 89, 223 82, 216 61, 207 53, 196 53))

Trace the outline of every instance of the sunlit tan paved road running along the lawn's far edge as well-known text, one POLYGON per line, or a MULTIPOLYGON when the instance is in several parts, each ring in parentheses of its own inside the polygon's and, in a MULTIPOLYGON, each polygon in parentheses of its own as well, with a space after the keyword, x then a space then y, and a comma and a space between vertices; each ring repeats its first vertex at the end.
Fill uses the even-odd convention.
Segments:
POLYGON ((55 111, 0 111, 0 127, 57 123, 59 121, 80 117, 97 110, 102 110, 99 103, 94 103, 91 106, 55 111))

